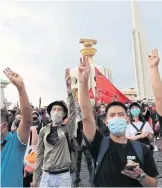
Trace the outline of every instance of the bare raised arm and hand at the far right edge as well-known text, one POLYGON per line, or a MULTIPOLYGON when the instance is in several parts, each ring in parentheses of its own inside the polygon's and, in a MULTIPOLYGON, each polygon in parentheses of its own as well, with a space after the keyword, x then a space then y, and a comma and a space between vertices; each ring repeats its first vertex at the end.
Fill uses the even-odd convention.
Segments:
POLYGON ((162 116, 162 81, 158 68, 160 58, 157 49, 152 50, 152 53, 149 55, 148 62, 150 65, 151 81, 155 96, 156 111, 160 116, 162 116))

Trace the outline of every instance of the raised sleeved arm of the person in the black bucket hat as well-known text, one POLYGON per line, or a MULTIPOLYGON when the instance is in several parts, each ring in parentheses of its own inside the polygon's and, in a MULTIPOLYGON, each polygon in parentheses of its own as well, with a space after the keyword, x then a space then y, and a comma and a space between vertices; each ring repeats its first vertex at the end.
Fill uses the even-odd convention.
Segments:
POLYGON ((73 135, 75 129, 75 118, 76 118, 76 103, 71 88, 71 76, 70 70, 66 69, 65 71, 65 81, 67 87, 67 102, 68 102, 68 125, 70 130, 70 135, 73 135))

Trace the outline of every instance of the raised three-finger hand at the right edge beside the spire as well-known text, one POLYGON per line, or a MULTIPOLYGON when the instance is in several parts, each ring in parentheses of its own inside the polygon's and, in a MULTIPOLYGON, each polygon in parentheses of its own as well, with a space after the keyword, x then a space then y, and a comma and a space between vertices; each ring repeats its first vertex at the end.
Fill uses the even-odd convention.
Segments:
POLYGON ((157 49, 152 50, 152 53, 148 56, 148 62, 150 67, 155 67, 159 65, 160 57, 158 55, 157 49))

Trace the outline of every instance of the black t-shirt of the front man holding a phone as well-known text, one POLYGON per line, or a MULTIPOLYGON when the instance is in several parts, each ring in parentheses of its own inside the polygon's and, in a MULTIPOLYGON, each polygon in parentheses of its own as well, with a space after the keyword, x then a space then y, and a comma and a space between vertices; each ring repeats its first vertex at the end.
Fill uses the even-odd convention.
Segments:
MULTIPOLYGON (((100 143, 103 135, 96 131, 94 141, 90 145, 90 152, 96 161, 100 143)), ((152 154, 148 148, 142 145, 144 152, 144 172, 151 177, 156 177, 158 171, 152 154)), ((140 164, 140 160, 134 151, 131 142, 128 140, 127 144, 115 143, 110 139, 110 145, 105 153, 100 169, 95 178, 96 187, 141 187, 138 180, 129 178, 121 173, 127 164, 127 159, 134 159, 134 162, 140 164)))

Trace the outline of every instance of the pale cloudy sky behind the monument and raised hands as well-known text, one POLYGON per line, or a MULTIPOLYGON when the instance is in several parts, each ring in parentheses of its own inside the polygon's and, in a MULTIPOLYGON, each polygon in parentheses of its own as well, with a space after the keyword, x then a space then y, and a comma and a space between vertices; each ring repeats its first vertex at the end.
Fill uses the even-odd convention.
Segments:
MULTIPOLYGON (((140 1, 139 10, 149 50, 162 54, 162 1, 140 1)), ((19 73, 35 106, 39 97, 43 105, 66 99, 64 71, 79 64, 80 38, 97 40, 96 63, 117 88, 135 87, 130 1, 1 1, 0 78, 8 66, 19 73)), ((12 84, 5 97, 18 101, 12 84)))

